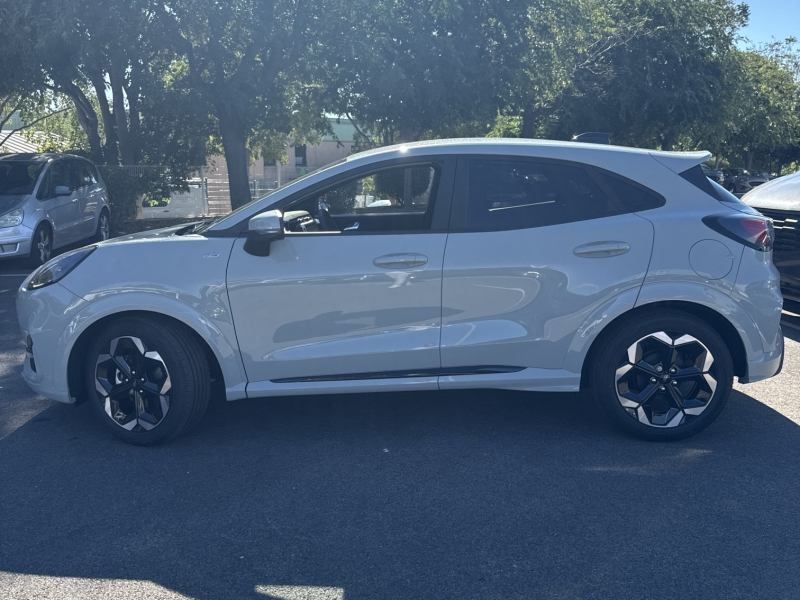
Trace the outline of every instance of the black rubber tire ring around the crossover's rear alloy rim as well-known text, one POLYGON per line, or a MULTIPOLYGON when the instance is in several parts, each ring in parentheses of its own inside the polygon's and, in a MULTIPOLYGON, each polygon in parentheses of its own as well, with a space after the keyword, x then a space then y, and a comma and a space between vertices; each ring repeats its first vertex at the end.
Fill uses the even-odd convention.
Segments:
POLYGON ((602 341, 603 347, 592 366, 592 391, 597 403, 615 425, 636 437, 672 441, 691 437, 713 423, 728 401, 733 388, 733 359, 722 337, 701 319, 681 313, 663 312, 627 319, 602 341), (702 342, 716 363, 717 388, 711 404, 700 415, 677 427, 653 427, 631 417, 616 393, 615 373, 619 361, 631 344, 658 331, 679 331, 702 342))

